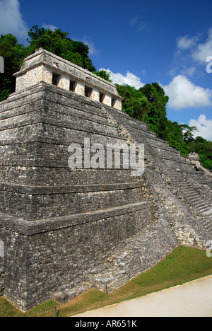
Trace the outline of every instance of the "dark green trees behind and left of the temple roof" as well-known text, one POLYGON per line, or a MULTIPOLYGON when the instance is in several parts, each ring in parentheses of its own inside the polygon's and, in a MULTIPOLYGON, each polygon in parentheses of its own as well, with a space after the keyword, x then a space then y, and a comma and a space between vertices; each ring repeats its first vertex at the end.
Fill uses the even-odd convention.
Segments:
POLYGON ((16 90, 16 78, 13 74, 20 70, 23 59, 33 54, 42 47, 59 57, 69 60, 74 64, 89 71, 95 71, 90 57, 89 48, 83 42, 71 40, 69 33, 61 30, 47 30, 33 25, 28 33, 28 45, 18 43, 14 35, 1 35, 0 56, 4 57, 4 74, 0 75, 0 100, 5 100, 8 95, 16 90))

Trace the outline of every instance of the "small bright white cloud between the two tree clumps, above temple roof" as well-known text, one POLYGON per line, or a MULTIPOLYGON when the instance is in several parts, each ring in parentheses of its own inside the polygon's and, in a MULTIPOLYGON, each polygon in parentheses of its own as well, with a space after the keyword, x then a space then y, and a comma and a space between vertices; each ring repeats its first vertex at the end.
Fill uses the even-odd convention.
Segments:
POLYGON ((141 88, 144 83, 141 83, 141 79, 132 74, 131 72, 127 71, 126 72, 126 76, 122 75, 122 74, 114 74, 112 71, 110 71, 110 69, 100 69, 100 70, 105 70, 108 73, 110 73, 110 79, 112 80, 112 82, 114 84, 119 84, 119 85, 130 85, 130 86, 134 86, 135 88, 141 88))

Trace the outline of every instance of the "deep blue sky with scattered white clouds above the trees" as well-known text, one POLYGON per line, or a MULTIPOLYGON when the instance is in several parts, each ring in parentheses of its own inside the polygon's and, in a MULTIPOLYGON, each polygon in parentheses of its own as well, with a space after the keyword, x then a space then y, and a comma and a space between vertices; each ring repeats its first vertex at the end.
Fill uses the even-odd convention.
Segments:
POLYGON ((35 24, 69 32, 114 83, 160 83, 168 119, 212 141, 211 16, 211 0, 0 0, 0 34, 24 43, 35 24))

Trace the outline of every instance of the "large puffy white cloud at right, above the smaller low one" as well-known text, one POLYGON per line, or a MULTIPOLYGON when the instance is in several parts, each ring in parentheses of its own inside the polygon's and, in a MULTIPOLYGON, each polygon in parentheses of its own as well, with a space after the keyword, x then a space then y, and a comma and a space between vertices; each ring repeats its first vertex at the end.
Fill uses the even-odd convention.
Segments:
POLYGON ((186 76, 178 75, 169 85, 163 86, 166 95, 170 97, 169 107, 176 110, 212 106, 212 90, 196 86, 186 76))

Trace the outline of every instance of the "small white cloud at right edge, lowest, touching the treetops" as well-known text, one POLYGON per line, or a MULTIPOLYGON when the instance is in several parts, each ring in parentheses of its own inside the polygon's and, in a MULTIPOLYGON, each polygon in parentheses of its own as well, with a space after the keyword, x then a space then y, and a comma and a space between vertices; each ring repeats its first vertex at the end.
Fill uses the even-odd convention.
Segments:
POLYGON ((212 141, 212 120, 207 120, 206 115, 200 115, 198 120, 190 120, 189 126, 199 129, 199 132, 194 134, 194 138, 200 136, 212 141))

